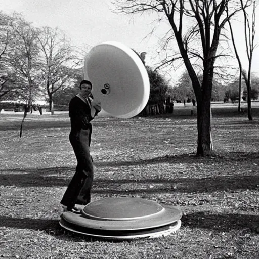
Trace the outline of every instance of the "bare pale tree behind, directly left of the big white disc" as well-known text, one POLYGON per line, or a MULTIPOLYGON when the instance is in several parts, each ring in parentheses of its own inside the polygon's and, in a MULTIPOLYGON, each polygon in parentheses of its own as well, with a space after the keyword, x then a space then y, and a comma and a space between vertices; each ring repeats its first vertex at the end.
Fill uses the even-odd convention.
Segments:
POLYGON ((42 28, 38 40, 42 53, 42 79, 48 93, 50 111, 54 114, 53 96, 71 82, 72 70, 69 67, 77 65, 77 57, 65 34, 58 28, 42 28))

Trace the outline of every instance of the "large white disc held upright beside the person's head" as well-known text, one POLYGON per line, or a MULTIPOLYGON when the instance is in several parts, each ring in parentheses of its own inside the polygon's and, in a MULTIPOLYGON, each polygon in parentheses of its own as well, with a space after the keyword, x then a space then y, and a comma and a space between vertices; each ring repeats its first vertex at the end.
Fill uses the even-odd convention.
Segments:
POLYGON ((139 56, 119 42, 103 42, 91 49, 84 61, 84 78, 93 84, 94 100, 113 116, 134 117, 148 102, 147 70, 139 56))

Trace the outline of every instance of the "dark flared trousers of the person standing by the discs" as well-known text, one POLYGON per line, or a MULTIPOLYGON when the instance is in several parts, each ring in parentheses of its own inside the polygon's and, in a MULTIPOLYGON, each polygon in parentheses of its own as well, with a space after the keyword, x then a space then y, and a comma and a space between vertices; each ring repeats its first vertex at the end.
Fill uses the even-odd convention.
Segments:
POLYGON ((77 166, 61 204, 73 207, 75 204, 86 205, 91 201, 91 188, 94 180, 94 166, 90 155, 92 127, 87 130, 70 132, 69 140, 73 147, 77 166))

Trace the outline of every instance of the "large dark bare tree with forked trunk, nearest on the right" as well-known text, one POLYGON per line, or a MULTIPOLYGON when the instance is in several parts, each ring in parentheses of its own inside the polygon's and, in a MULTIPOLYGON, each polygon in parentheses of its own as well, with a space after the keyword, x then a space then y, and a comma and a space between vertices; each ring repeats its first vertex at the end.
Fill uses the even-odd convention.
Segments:
MULTIPOLYGON (((116 0, 113 4, 118 12, 136 14, 143 12, 157 12, 167 19, 172 34, 179 47, 179 52, 192 81, 197 101, 197 155, 209 155, 213 151, 211 136, 211 94, 215 61, 223 56, 217 53, 222 42, 222 29, 241 8, 236 8, 230 0, 116 0), (225 9, 232 4, 229 17, 225 9), (188 25, 190 24, 190 25, 188 25), (194 40, 195 39, 195 40, 194 40), (195 44, 194 44, 195 42, 195 44), (199 42, 199 43, 198 43, 199 42), (199 59, 202 69, 202 82, 198 80, 192 60, 199 59)), ((169 41, 166 42, 169 44, 169 41)), ((172 63, 178 57, 168 60, 172 63)))

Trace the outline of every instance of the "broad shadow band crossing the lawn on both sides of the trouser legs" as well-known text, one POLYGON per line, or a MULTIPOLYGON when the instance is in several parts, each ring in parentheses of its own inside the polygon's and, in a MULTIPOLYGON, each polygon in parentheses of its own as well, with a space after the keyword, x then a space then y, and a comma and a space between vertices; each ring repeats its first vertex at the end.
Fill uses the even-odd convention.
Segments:
MULTIPOLYGON (((0 171, 1 186, 16 187, 56 187, 67 186, 74 168, 52 167, 42 169, 2 170, 0 171), (2 172, 2 174, 1 174, 2 172)), ((165 178, 141 179, 129 176, 131 179, 96 178, 93 192, 103 194, 138 194, 138 193, 202 193, 215 191, 234 191, 258 189, 258 175, 227 175, 206 178, 176 178, 174 175, 165 178), (150 185, 153 188, 150 188, 150 185), (123 186, 125 185, 125 186, 123 186)))

